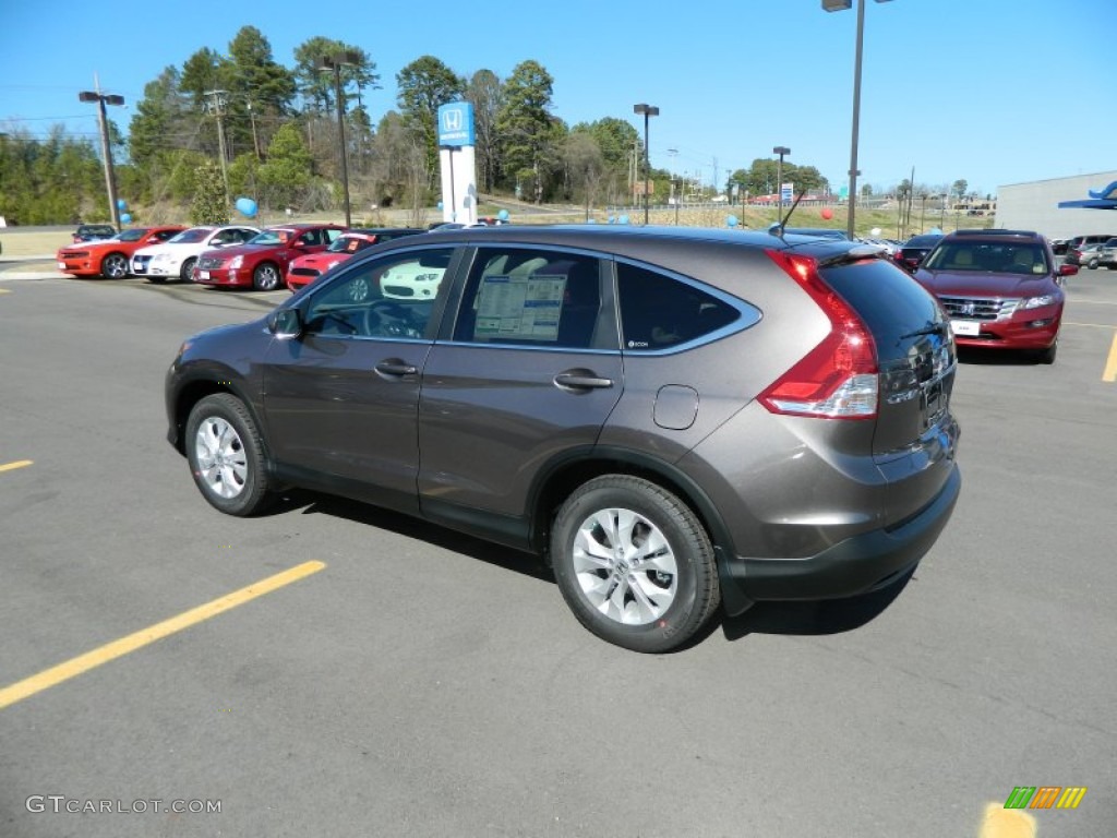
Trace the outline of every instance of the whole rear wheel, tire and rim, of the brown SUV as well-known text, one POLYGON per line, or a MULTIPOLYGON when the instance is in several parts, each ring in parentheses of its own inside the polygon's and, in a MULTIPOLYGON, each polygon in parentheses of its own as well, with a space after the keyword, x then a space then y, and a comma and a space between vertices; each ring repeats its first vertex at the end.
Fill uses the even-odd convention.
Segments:
POLYGON ((604 475, 563 503, 555 580, 579 621, 642 653, 687 644, 720 602, 714 547, 689 506, 640 477, 604 475))

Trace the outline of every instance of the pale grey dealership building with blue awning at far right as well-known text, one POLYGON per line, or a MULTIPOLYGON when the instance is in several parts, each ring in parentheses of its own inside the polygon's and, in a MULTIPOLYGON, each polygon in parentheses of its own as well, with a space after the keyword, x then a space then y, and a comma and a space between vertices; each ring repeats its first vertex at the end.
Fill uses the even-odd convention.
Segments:
POLYGON ((996 190, 994 227, 1035 230, 1052 239, 1117 236, 1117 171, 1012 183, 996 190), (1060 203, 1080 204, 1060 208, 1060 203))

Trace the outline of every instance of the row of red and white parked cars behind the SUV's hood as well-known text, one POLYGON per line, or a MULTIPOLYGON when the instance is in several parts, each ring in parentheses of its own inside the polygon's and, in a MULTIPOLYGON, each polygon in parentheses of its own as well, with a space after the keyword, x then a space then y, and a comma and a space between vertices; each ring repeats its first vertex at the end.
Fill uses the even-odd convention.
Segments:
MULTIPOLYGON (((334 223, 247 225, 184 228, 137 227, 107 238, 89 238, 59 249, 58 269, 71 276, 150 283, 193 282, 218 287, 297 291, 353 254, 414 228, 346 229, 334 223)), ((79 228, 84 230, 85 228, 79 228)), ((85 230, 83 235, 93 236, 85 230)))

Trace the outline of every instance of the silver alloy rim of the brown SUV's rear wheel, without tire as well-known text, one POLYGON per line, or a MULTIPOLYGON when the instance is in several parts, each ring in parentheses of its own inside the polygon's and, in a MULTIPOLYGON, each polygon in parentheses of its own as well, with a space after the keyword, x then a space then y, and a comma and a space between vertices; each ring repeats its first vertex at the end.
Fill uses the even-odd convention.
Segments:
POLYGON ((627 626, 658 620, 679 591, 671 545, 659 527, 632 510, 600 510, 583 521, 573 560, 590 604, 627 626))

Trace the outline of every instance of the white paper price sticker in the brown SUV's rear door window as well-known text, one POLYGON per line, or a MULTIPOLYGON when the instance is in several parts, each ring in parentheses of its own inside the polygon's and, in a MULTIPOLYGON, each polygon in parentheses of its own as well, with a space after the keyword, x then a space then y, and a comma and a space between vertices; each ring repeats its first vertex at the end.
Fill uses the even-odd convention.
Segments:
POLYGON ((561 275, 483 277, 474 340, 557 341, 565 293, 561 275))

